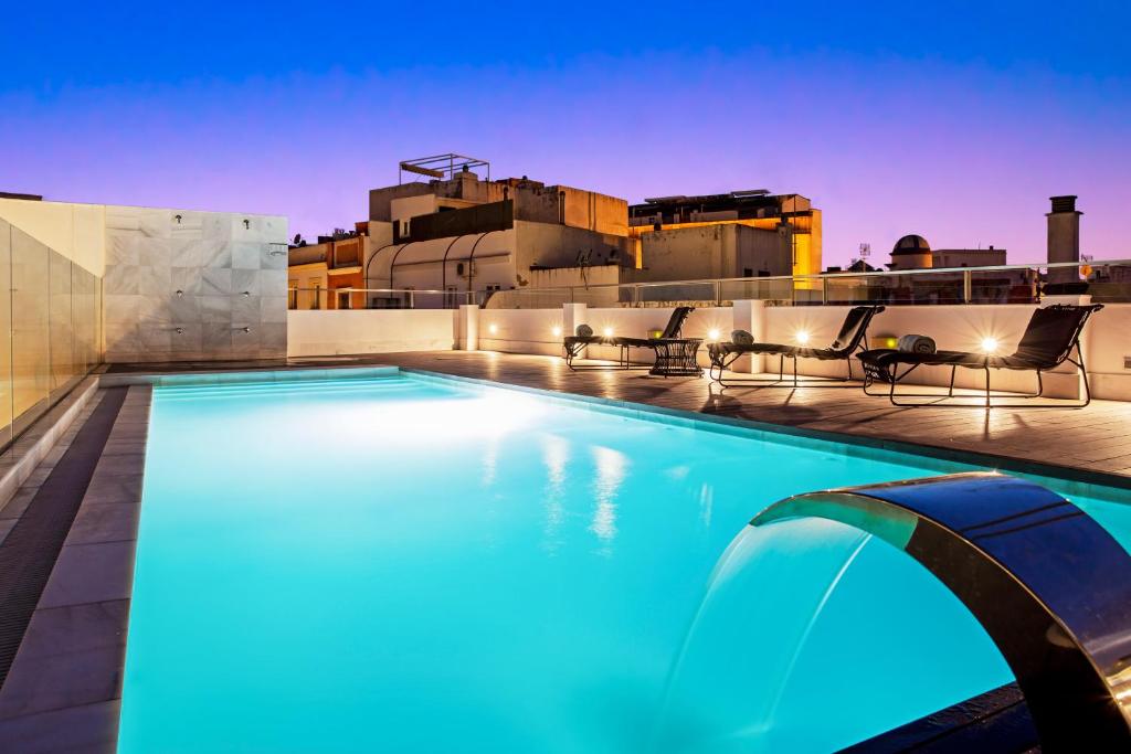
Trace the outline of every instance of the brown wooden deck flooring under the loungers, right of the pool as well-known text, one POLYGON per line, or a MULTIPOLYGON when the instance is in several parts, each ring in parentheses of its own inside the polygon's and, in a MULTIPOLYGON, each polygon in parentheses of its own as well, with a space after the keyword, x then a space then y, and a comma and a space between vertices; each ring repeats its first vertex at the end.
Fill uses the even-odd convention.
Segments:
MULTIPOLYGON (((1114 475, 1131 486, 1131 402, 1093 401, 1082 409, 897 408, 858 389, 741 388, 720 390, 700 378, 656 378, 645 371, 571 372, 560 357, 494 352, 382 354, 396 364, 495 382, 612 398, 754 422, 909 442, 950 453, 1114 475)), ((1110 482, 1110 480, 1108 480, 1110 482)))

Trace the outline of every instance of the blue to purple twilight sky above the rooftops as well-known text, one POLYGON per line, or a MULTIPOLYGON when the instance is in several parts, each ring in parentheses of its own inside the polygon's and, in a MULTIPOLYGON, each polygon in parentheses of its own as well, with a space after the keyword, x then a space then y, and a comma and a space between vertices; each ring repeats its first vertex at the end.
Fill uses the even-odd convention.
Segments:
POLYGON ((18 5, 0 190, 310 236, 459 151, 630 201, 796 191, 826 265, 912 232, 1041 260, 1055 193, 1131 257, 1128 2, 18 5))

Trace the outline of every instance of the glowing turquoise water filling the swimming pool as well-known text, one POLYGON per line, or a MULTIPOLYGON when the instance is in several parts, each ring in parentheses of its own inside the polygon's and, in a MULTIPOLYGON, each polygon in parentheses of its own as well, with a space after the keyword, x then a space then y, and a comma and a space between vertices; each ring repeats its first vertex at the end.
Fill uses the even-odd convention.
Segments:
POLYGON ((412 376, 158 388, 150 424, 122 752, 824 752, 1011 679, 841 525, 715 573, 783 497, 968 467, 412 376))

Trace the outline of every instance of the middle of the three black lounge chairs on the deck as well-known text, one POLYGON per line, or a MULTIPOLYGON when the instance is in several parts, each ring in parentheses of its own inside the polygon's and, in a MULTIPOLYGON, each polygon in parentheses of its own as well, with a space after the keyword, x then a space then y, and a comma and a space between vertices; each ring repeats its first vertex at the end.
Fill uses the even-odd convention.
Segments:
POLYGON ((844 324, 836 339, 828 348, 803 348, 777 343, 713 343, 707 347, 710 354, 710 378, 724 388, 737 385, 788 387, 828 385, 829 382, 847 382, 853 379, 852 356, 863 349, 867 343, 867 327, 872 318, 883 311, 883 306, 853 306, 845 317, 844 324), (739 358, 750 355, 768 355, 778 357, 778 379, 775 382, 762 379, 724 380, 723 374, 739 358), (784 382, 785 359, 793 359, 793 382, 784 382), (822 380, 797 381, 797 358, 818 358, 820 361, 843 361, 848 365, 847 378, 829 378, 822 380))

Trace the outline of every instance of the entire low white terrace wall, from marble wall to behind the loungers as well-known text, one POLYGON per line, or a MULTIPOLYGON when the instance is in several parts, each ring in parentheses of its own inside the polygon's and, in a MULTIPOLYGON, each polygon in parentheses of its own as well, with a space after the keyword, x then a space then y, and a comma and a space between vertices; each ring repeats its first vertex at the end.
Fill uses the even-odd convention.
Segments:
MULTIPOLYGON (((743 302, 739 302, 742 304, 743 302)), ((757 303, 757 302, 754 302, 757 303)), ((797 333, 809 333, 809 345, 827 347, 848 313, 849 306, 744 306, 697 309, 683 326, 685 337, 710 339, 713 330, 729 338, 735 328, 751 330, 767 343, 797 344, 797 333), (739 321, 745 317, 746 321, 739 321)), ((613 335, 647 337, 648 330, 667 324, 672 309, 621 309, 577 306, 576 322, 589 324, 601 335, 610 328, 613 335)), ((981 350, 983 339, 996 338, 999 353, 1011 353, 1025 331, 1034 306, 998 304, 986 306, 932 305, 888 306, 873 321, 869 336, 927 335, 944 350, 981 350)), ((369 310, 369 311, 292 311, 287 313, 291 356, 335 354, 390 353, 398 350, 446 350, 478 347, 517 354, 561 355, 563 330, 562 309, 475 310, 476 337, 465 343, 461 331, 467 318, 454 310, 369 310)), ((572 315, 572 314, 571 314, 572 315)), ((1108 304, 1089 321, 1083 337, 1093 396, 1112 400, 1131 400, 1131 370, 1123 367, 1124 356, 1131 356, 1131 304, 1108 304)), ((615 359, 619 349, 592 346, 589 358, 615 359)), ((648 362, 649 350, 637 348, 633 359, 648 362)), ((707 364, 707 349, 700 352, 700 363, 707 364)), ((800 374, 841 376, 844 362, 800 359, 800 374)), ((767 372, 777 371, 777 359, 767 357, 767 372)), ((860 376, 858 362, 853 373, 860 376)), ((908 380, 916 384, 946 385, 950 370, 920 367, 908 380)), ((956 384, 981 388, 984 374, 979 370, 960 369, 956 384)), ((1028 391, 1036 385, 1029 372, 995 370, 991 387, 995 390, 1028 391)), ((1064 398, 1079 396, 1080 381, 1071 365, 1062 365, 1046 375, 1047 395, 1064 398)))

